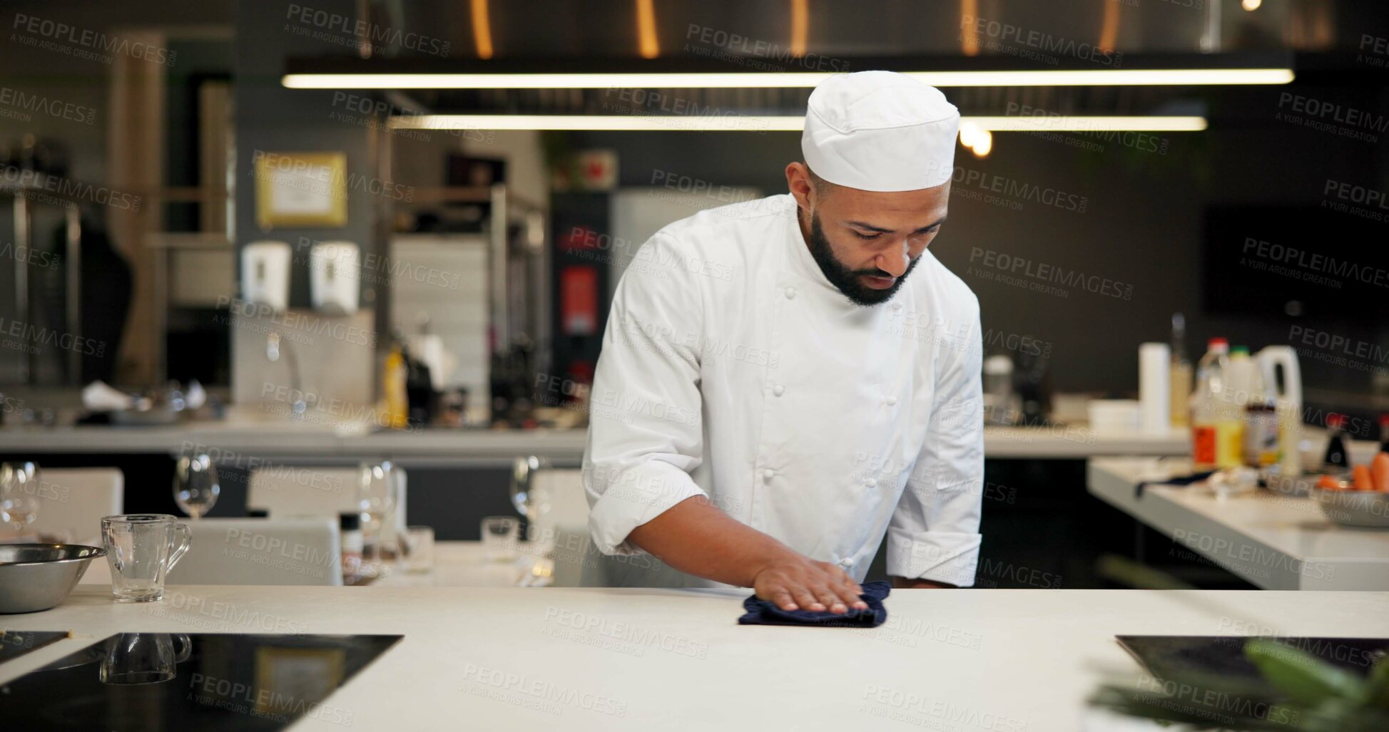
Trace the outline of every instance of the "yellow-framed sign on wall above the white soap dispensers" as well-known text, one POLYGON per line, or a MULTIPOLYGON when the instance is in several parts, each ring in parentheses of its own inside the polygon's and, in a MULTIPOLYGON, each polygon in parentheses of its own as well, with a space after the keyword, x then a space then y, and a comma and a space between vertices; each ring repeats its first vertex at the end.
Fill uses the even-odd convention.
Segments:
POLYGON ((346 153, 269 153, 257 150, 256 222, 283 226, 347 225, 346 153))

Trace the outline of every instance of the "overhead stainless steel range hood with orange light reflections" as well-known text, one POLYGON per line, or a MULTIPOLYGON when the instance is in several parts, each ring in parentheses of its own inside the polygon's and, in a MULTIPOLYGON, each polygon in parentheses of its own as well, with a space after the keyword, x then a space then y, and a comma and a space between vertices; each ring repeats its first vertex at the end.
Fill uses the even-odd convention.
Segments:
POLYGON ((435 36, 379 32, 392 43, 290 60, 285 85, 369 90, 363 93, 382 94, 407 117, 689 114, 679 107, 776 118, 801 114, 810 86, 826 74, 886 68, 932 74, 926 81, 965 115, 1028 107, 1142 117, 1200 114, 1206 83, 1286 83, 1295 67, 1338 81, 1375 71, 1336 49, 1389 19, 1363 19, 1347 3, 1268 6, 1246 13, 1238 0, 406 3, 375 13, 365 28, 435 36), (1358 35, 1340 38, 1347 17, 1358 35), (1178 69, 1225 76, 1132 81, 1178 69), (1253 81, 1229 78, 1231 71, 1274 74, 1253 81), (954 72, 975 76, 939 81, 954 72), (1011 75, 979 81, 981 72, 1011 75), (581 74, 588 82, 575 81, 581 74), (632 89, 643 90, 640 101, 632 89))

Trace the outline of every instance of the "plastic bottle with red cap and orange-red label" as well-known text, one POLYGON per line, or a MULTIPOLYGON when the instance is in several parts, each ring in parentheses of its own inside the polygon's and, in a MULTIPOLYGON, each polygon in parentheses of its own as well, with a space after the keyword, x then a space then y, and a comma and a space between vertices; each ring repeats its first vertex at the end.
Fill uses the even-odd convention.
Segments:
POLYGON ((1192 394, 1192 461, 1196 469, 1235 468, 1243 460, 1243 414, 1233 408, 1226 378, 1229 342, 1213 338, 1196 364, 1192 394))

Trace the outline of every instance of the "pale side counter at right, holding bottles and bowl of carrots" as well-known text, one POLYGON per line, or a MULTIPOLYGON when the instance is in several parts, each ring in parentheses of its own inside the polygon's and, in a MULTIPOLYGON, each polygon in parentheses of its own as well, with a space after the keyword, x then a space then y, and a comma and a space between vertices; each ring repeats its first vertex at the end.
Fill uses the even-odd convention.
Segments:
POLYGON ((1257 490, 1220 500, 1200 488, 1149 485, 1190 472, 1185 460, 1096 458, 1089 490, 1264 589, 1389 590, 1389 531, 1340 526, 1311 499, 1257 490))

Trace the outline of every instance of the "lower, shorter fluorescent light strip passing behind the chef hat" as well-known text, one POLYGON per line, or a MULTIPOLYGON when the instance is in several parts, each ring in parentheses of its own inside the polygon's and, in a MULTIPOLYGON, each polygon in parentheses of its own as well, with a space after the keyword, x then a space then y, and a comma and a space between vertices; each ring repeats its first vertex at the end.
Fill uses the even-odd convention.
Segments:
MULTIPOLYGON (((575 129, 799 132, 800 115, 428 114, 392 117, 393 129, 575 129)), ((964 117, 990 132, 1200 132, 1204 117, 964 117)))

